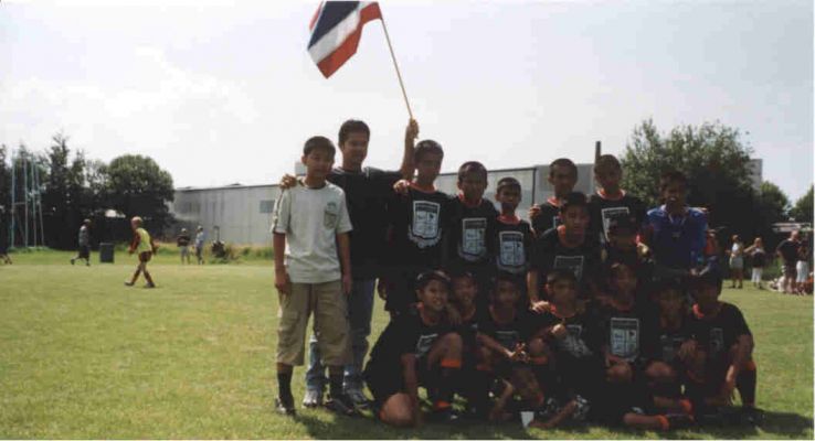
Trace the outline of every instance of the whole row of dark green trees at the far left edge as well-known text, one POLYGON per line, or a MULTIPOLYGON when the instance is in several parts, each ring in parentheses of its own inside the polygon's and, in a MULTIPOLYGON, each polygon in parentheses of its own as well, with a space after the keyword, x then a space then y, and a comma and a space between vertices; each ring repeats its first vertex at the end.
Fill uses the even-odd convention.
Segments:
MULTIPOLYGON (((63 133, 52 137, 44 151, 21 143, 13 157, 0 146, 0 234, 10 238, 14 216, 14 246, 23 244, 24 179, 39 175, 39 189, 29 181, 31 195, 39 192, 43 237, 38 240, 57 249, 76 247, 76 234, 84 219, 92 222, 94 241, 127 240, 128 219, 141 216, 150 229, 161 230, 172 222, 168 202, 173 200, 172 176, 152 159, 125 154, 106 163, 89 159, 68 147, 63 133), (12 169, 15 176, 12 207, 12 169), (35 170, 34 170, 35 169, 35 170)), ((39 215, 38 215, 39 218, 39 215)), ((30 219, 31 222, 31 219, 30 219)), ((33 244, 32 234, 29 243, 33 244)))

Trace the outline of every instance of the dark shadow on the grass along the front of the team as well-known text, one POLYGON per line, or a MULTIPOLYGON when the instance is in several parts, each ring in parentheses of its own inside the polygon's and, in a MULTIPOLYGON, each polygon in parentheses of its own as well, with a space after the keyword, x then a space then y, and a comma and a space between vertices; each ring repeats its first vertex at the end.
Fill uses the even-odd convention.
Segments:
MULTIPOLYGON (((304 426, 314 439, 534 439, 534 438, 657 438, 656 432, 625 428, 602 428, 591 433, 594 424, 567 424, 557 431, 526 430, 519 423, 489 424, 462 421, 455 424, 425 423, 417 429, 396 429, 385 426, 370 416, 342 418, 341 423, 325 421, 313 416, 299 415, 295 420, 304 426), (607 430, 607 431, 605 431, 607 430), (591 434, 590 434, 591 433, 591 434)), ((743 439, 771 435, 772 438, 812 437, 813 419, 797 413, 764 413, 764 422, 752 426, 695 427, 670 432, 668 438, 692 440, 699 438, 743 439), (780 435, 780 437, 779 437, 780 435)))

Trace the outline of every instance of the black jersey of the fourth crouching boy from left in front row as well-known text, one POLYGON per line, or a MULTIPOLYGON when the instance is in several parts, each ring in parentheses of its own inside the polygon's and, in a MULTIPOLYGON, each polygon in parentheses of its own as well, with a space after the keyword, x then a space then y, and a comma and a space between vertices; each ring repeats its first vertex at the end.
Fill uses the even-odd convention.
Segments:
POLYGON ((567 319, 561 319, 552 312, 544 312, 537 320, 537 327, 541 331, 562 323, 569 331, 562 338, 547 337, 558 359, 561 357, 593 359, 601 355, 602 333, 597 326, 599 322, 596 310, 588 305, 584 312, 567 319))

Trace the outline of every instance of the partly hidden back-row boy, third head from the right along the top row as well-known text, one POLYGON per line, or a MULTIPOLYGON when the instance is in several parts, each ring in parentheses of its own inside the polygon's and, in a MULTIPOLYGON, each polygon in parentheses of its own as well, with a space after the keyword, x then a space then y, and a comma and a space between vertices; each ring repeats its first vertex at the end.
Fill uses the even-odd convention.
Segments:
POLYGON ((560 225, 560 205, 568 194, 574 191, 578 183, 578 166, 568 158, 558 158, 549 164, 549 183, 554 195, 546 202, 529 207, 529 219, 536 235, 560 225))

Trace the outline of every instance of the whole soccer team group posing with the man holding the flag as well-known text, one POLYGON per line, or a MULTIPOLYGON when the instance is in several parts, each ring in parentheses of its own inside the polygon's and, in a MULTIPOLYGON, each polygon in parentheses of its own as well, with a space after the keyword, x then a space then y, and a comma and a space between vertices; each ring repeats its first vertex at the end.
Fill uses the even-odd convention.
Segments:
POLYGON ((384 172, 362 166, 370 129, 348 120, 340 166, 334 143, 313 137, 306 175, 282 182, 272 226, 279 412, 296 412, 293 368, 314 314, 306 407, 348 416, 371 407, 400 427, 523 415, 540 428, 669 430, 761 417, 752 335, 739 309, 718 300, 706 215, 687 206, 681 173, 655 183, 664 205, 646 211, 620 187, 613 155, 594 164, 600 190, 590 197, 573 191, 574 163, 558 159, 554 195, 530 208, 530 225, 516 213, 519 181, 497 182, 497 211, 479 162, 458 169, 458 194, 436 190, 444 151, 417 135, 411 120, 400 171, 384 172), (364 364, 374 289, 390 322, 364 364))

